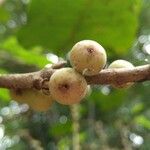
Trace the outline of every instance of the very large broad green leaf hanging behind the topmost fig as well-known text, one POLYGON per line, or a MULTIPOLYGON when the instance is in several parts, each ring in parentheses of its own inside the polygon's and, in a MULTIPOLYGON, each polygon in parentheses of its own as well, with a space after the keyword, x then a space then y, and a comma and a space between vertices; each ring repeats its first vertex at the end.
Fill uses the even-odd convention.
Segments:
POLYGON ((140 6, 140 0, 32 0, 17 36, 26 47, 40 45, 60 55, 83 39, 124 55, 135 40, 140 6))

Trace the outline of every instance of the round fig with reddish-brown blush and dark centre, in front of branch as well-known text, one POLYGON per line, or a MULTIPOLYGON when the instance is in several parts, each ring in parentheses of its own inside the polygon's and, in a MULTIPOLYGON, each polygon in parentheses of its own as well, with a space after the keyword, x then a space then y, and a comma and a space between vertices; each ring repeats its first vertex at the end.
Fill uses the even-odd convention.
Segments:
POLYGON ((49 89, 57 102, 71 105, 80 102, 85 97, 87 83, 84 77, 74 69, 62 68, 52 74, 49 89))

